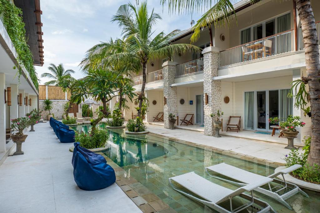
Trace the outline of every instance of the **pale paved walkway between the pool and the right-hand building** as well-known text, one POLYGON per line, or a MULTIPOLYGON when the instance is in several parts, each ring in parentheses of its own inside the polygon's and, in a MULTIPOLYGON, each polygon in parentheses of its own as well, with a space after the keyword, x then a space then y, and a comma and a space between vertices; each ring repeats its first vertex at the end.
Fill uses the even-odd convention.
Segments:
POLYGON ((222 135, 221 138, 204 135, 202 132, 190 131, 184 129, 164 129, 163 126, 148 124, 148 130, 152 133, 177 138, 184 141, 212 146, 224 150, 230 150, 244 155, 259 157, 273 162, 285 163, 282 159, 284 155, 290 152, 285 149, 286 145, 268 143, 263 141, 254 141, 250 139, 236 138, 222 135))

